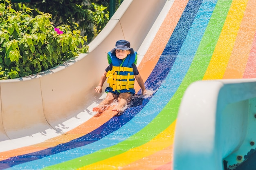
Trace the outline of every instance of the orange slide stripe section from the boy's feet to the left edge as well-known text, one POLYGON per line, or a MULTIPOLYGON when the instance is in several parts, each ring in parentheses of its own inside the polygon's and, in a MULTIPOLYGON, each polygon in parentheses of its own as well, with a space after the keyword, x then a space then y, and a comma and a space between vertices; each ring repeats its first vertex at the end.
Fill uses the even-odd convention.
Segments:
POLYGON ((69 142, 73 139, 79 138, 89 132, 92 132, 93 130, 99 128, 102 124, 106 123, 109 119, 111 119, 113 116, 117 114, 117 112, 112 111, 112 107, 110 107, 108 110, 104 111, 99 115, 99 117, 92 117, 88 121, 84 122, 80 126, 77 126, 76 128, 66 132, 63 135, 53 137, 51 139, 48 139, 44 142, 26 146, 14 150, 8 150, 6 152, 0 152, 0 161, 4 159, 8 159, 9 157, 15 157, 18 155, 24 155, 32 152, 37 152, 40 150, 44 150, 50 147, 57 146, 58 144, 64 144, 66 142, 69 142))

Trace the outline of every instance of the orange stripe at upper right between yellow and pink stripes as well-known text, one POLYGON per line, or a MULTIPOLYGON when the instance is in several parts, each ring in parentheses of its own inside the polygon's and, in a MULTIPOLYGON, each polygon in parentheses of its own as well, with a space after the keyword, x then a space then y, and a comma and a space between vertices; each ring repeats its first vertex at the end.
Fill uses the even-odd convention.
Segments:
POLYGON ((243 77, 256 31, 255 8, 256 1, 249 0, 223 79, 243 77))

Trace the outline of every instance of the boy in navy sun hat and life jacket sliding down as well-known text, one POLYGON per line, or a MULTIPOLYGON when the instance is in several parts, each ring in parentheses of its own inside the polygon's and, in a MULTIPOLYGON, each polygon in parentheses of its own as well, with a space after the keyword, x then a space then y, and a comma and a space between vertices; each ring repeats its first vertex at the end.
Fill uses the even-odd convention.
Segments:
POLYGON ((101 76, 99 85, 94 88, 97 93, 102 92, 102 86, 108 77, 109 87, 106 88, 106 98, 92 111, 101 113, 106 110, 109 104, 118 100, 117 106, 113 109, 122 112, 131 95, 135 94, 134 82, 137 80, 142 94, 146 92, 142 77, 137 69, 137 53, 130 48, 130 42, 118 40, 116 46, 108 52, 109 66, 101 76))

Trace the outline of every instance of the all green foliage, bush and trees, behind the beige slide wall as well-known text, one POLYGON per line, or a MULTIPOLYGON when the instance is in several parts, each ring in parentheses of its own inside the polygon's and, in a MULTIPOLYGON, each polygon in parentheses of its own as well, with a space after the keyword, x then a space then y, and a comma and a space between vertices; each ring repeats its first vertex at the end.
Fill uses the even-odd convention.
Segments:
POLYGON ((39 73, 86 53, 108 11, 109 0, 0 0, 0 79, 39 73))

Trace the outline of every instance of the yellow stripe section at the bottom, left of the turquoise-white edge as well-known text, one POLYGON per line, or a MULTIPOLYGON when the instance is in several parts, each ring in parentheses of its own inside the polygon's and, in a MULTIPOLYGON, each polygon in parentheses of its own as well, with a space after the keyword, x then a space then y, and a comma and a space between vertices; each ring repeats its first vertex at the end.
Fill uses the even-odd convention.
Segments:
POLYGON ((159 135, 144 145, 132 148, 115 157, 79 168, 79 170, 118 170, 120 167, 126 166, 134 161, 142 159, 143 157, 152 155, 159 150, 163 150, 173 144, 175 124, 176 120, 166 128, 166 130, 159 133, 159 135))

